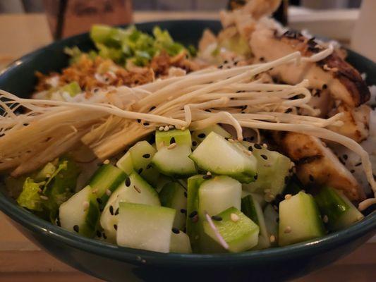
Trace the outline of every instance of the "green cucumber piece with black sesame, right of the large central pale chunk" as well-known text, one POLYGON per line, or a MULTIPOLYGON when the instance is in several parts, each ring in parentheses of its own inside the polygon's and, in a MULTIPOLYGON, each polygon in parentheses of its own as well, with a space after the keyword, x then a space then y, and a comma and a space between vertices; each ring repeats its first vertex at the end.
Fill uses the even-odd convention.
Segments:
POLYGON ((250 192, 264 192, 277 196, 283 192, 289 180, 291 161, 279 152, 269 151, 261 145, 243 141, 243 146, 252 151, 257 159, 257 180, 243 187, 250 192))

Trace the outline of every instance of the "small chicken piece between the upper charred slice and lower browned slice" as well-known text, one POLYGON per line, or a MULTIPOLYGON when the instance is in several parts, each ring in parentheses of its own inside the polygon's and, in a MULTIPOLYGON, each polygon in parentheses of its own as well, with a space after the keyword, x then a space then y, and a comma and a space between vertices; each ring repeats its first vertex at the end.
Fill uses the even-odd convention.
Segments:
POLYGON ((341 104, 336 107, 334 114, 337 112, 344 114, 344 116, 341 118, 344 125, 340 127, 329 126, 328 129, 347 136, 358 143, 368 138, 368 133, 370 131, 370 107, 368 105, 350 108, 345 104, 341 104))

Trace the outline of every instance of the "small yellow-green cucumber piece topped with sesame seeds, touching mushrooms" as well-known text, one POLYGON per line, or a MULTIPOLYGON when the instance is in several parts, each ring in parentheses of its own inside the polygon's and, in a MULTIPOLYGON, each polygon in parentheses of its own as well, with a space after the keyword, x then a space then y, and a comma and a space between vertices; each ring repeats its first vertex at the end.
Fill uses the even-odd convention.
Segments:
POLYGON ((188 129, 170 129, 169 131, 159 131, 155 132, 155 145, 157 145, 157 150, 162 149, 162 147, 168 147, 172 143, 176 145, 192 145, 192 139, 190 137, 190 132, 188 129))

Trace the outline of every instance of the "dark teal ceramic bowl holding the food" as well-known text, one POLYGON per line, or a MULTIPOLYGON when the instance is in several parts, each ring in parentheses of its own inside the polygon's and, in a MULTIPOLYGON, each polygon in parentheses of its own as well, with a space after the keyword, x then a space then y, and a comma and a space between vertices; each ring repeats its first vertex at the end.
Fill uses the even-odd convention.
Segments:
MULTIPOLYGON (((197 44, 206 27, 220 28, 219 22, 210 20, 142 23, 138 27, 150 32, 154 25, 166 28, 185 44, 197 44)), ((23 56, 0 73, 0 89, 28 97, 36 82, 35 71, 61 70, 68 63, 63 48, 74 45, 92 48, 84 34, 23 56)), ((369 84, 376 84, 375 63, 351 51, 348 60, 360 72, 368 73, 369 84)), ((0 190, 0 209, 18 230, 51 255, 106 281, 285 281, 331 264, 376 233, 376 212, 369 211, 363 221, 344 231, 288 247, 240 254, 161 254, 116 247, 65 231, 18 207, 4 190, 0 190)))

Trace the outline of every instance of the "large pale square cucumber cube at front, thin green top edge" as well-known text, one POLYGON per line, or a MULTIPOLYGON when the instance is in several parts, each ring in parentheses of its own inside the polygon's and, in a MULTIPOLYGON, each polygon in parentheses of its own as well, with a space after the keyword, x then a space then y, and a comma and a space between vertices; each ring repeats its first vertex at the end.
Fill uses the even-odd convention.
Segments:
POLYGON ((116 243, 122 247, 169 252, 175 209, 121 202, 116 243))

